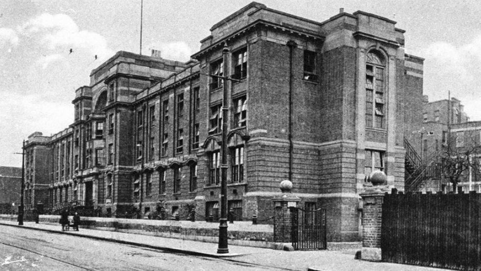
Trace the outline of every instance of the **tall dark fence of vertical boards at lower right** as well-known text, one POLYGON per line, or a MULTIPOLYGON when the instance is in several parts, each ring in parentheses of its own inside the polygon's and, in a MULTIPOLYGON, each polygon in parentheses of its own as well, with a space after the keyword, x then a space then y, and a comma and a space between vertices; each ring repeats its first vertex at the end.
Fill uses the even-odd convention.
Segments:
POLYGON ((386 194, 382 261, 481 269, 481 194, 386 194))

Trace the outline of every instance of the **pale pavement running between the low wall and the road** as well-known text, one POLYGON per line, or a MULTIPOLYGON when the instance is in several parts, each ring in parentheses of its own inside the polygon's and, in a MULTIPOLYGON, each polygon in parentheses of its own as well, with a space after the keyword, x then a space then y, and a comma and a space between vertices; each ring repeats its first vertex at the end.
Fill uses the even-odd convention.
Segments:
POLYGON ((183 240, 175 238, 142 235, 135 233, 111 232, 80 228, 79 232, 62 232, 60 225, 35 224, 24 222, 19 226, 16 221, 0 220, 0 225, 20 227, 44 232, 76 235, 108 242, 145 247, 166 252, 181 253, 186 255, 223 259, 231 262, 252 263, 283 270, 315 270, 315 271, 372 271, 372 270, 419 270, 434 271, 441 269, 391 264, 376 263, 354 259, 354 251, 281 251, 267 248, 246 247, 229 245, 228 254, 217 254, 217 244, 183 240))

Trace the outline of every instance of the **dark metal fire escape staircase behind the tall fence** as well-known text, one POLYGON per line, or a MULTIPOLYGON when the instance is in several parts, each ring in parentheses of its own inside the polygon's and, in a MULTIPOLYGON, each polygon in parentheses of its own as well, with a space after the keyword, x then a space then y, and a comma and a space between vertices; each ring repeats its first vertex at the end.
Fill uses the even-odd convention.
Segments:
POLYGON ((424 187, 426 181, 441 178, 437 152, 421 159, 406 138, 404 139, 404 148, 406 149, 404 157, 404 189, 406 192, 417 192, 424 187))

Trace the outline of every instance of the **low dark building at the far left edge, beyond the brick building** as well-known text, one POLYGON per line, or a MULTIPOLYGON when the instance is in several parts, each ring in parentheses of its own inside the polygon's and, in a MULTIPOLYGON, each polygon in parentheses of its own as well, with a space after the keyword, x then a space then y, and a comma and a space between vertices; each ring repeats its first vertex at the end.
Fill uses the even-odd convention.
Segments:
POLYGON ((21 186, 21 167, 0 166, 0 214, 18 212, 21 186))

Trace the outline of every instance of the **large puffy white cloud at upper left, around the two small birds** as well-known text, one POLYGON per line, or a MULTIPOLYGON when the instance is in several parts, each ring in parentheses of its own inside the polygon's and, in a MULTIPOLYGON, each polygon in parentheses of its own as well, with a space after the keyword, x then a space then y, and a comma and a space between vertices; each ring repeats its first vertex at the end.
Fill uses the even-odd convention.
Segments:
POLYGON ((95 32, 80 30, 77 24, 66 14, 43 13, 18 28, 25 37, 37 39, 49 50, 62 49, 68 52, 85 50, 98 58, 106 59, 113 54, 106 39, 95 32))

